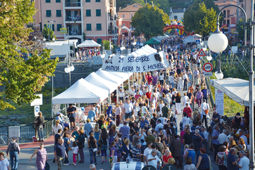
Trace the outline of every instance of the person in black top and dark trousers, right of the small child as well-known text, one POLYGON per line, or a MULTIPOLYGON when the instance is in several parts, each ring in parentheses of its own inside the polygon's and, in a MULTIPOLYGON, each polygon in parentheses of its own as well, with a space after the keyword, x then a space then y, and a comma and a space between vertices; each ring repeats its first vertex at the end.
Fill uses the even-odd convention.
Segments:
POLYGON ((91 131, 89 133, 88 137, 88 148, 89 148, 89 153, 90 153, 90 164, 97 164, 97 158, 96 158, 96 153, 97 153, 97 140, 94 137, 94 132, 91 131))

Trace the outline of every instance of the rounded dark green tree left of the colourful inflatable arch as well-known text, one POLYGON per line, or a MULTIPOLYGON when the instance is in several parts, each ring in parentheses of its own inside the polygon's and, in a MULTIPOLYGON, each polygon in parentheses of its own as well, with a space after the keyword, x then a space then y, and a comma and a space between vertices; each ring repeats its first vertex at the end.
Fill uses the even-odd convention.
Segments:
POLYGON ((153 36, 163 35, 166 23, 170 23, 168 15, 158 7, 147 4, 135 13, 131 25, 135 28, 135 35, 144 34, 148 40, 153 36))

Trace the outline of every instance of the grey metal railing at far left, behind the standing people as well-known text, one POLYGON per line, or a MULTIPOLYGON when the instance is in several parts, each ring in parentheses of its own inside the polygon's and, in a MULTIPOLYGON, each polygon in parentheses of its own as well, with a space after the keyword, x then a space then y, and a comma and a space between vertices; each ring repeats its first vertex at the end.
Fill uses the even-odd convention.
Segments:
MULTIPOLYGON (((48 120, 44 123, 43 135, 48 138, 52 132, 52 121, 48 120)), ((8 126, 0 126, 0 145, 8 144, 8 126)), ((32 137, 35 136, 34 123, 20 125, 19 143, 33 142, 32 137)))

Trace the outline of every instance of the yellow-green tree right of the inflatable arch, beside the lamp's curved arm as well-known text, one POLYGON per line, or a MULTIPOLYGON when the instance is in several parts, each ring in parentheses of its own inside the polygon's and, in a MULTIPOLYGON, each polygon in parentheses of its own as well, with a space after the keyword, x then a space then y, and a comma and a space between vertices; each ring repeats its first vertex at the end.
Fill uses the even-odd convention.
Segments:
POLYGON ((219 8, 213 0, 195 0, 184 13, 184 26, 188 32, 203 36, 215 31, 219 8))

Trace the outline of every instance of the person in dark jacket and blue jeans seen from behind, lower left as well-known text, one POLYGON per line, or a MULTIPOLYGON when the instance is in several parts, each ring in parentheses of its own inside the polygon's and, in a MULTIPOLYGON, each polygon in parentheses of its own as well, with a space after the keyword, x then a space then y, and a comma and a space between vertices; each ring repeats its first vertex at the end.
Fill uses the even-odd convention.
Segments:
POLYGON ((19 144, 16 142, 16 137, 12 138, 12 141, 9 143, 6 154, 7 156, 10 153, 10 160, 11 160, 11 169, 12 170, 17 170, 18 169, 18 164, 19 164, 19 156, 18 154, 20 153, 20 147, 19 144))

